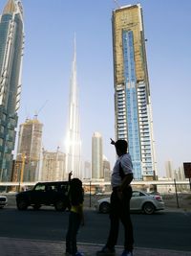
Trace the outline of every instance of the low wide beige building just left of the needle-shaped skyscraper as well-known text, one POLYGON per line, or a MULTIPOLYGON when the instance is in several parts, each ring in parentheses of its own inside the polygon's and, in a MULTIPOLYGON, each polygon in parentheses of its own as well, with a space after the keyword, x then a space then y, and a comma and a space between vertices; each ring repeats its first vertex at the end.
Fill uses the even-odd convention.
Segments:
POLYGON ((61 151, 43 151, 42 167, 40 172, 41 181, 68 180, 65 170, 66 154, 61 151))

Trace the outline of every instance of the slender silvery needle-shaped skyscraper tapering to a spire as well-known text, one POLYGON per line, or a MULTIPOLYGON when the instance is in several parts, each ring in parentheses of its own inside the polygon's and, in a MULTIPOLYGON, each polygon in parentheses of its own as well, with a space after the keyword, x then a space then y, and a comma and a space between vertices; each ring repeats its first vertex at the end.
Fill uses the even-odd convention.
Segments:
POLYGON ((76 47, 74 38, 74 59, 70 84, 69 121, 66 138, 66 172, 73 171, 81 178, 81 139, 79 132, 78 86, 76 79, 76 47))

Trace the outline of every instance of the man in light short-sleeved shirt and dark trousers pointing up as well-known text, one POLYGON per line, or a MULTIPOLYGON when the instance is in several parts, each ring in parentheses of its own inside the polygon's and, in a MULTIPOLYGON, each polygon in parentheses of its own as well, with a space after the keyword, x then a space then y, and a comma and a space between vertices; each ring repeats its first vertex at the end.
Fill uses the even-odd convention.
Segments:
POLYGON ((97 256, 115 255, 119 221, 124 227, 124 251, 121 256, 133 256, 133 224, 130 217, 130 199, 132 197, 131 181, 133 180, 133 164, 127 152, 125 140, 111 139, 117 151, 117 161, 112 174, 112 195, 110 208, 110 232, 106 245, 96 252, 97 256))

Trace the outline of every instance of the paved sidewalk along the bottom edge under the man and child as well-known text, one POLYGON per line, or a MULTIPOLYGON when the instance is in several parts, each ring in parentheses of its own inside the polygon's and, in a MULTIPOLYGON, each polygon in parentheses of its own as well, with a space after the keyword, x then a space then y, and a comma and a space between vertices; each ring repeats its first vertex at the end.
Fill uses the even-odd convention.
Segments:
MULTIPOLYGON (((78 243, 78 250, 85 256, 96 256, 96 251, 103 244, 81 244, 78 243)), ((0 238, 1 256, 64 256, 65 243, 54 241, 0 238)), ((117 246, 116 255, 121 254, 122 247, 117 246)), ((134 256, 191 256, 191 252, 151 249, 136 247, 134 256)))

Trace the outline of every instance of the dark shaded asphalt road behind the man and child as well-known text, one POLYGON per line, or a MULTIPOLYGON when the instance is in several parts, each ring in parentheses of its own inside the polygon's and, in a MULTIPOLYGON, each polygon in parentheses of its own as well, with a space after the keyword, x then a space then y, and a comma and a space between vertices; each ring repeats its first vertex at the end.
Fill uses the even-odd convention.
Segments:
MULTIPOLYGON (((80 243, 104 244, 108 228, 108 215, 85 210, 86 225, 80 229, 80 243)), ((137 247, 191 251, 191 213, 160 212, 152 216, 133 214, 137 247)), ((18 211, 5 208, 0 211, 0 237, 64 241, 68 212, 59 213, 50 208, 40 211, 18 211)), ((120 229, 121 230, 121 229, 120 229)), ((122 230, 118 245, 123 244, 122 230)))

